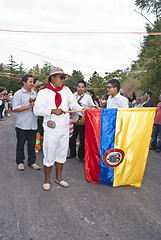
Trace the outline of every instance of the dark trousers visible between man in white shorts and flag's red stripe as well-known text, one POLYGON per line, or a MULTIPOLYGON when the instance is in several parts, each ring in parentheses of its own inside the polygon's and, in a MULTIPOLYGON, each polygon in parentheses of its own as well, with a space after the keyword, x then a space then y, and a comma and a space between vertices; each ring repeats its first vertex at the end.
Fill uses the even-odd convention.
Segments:
POLYGON ((80 133, 80 146, 78 149, 78 157, 84 158, 84 140, 85 140, 85 125, 74 125, 73 136, 69 140, 70 155, 76 156, 76 139, 80 133))

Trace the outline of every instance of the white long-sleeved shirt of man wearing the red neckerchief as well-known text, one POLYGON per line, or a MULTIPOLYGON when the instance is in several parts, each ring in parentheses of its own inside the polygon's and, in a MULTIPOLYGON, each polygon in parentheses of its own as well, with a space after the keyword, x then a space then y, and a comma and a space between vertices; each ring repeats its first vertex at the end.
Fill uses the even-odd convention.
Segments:
MULTIPOLYGON (((66 86, 59 91, 62 97, 62 103, 59 108, 64 111, 71 110, 82 110, 82 107, 77 103, 73 93, 66 86)), ((51 109, 56 109, 55 105, 55 95, 56 93, 50 89, 42 89, 38 92, 37 98, 33 107, 34 114, 36 116, 43 116, 43 127, 47 128, 47 121, 53 120, 56 123, 56 131, 61 131, 69 128, 69 114, 51 114, 51 109)))

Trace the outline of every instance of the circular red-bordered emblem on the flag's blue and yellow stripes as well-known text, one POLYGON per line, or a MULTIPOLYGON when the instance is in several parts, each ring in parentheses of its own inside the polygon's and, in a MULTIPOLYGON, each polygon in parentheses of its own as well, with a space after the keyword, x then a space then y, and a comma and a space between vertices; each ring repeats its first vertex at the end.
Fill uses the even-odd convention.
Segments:
POLYGON ((113 148, 103 155, 103 162, 108 167, 117 167, 124 159, 124 152, 120 149, 113 148))

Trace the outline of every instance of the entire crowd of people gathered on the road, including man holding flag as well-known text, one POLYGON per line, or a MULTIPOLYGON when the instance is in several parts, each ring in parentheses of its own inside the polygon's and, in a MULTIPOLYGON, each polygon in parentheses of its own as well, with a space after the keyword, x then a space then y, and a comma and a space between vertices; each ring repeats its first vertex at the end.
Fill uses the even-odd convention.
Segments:
MULTIPOLYGON (((54 67, 48 77, 47 86, 34 79, 32 75, 24 75, 22 88, 14 94, 14 97, 12 91, 8 94, 4 89, 0 89, 0 120, 4 121, 9 117, 11 110, 16 113, 17 168, 20 171, 25 169, 26 141, 28 166, 34 170, 41 169, 36 164, 36 153, 43 148, 44 190, 51 187, 50 174, 54 165, 55 182, 67 187, 68 183, 62 178, 66 159, 78 155, 79 161, 84 162, 85 109, 153 107, 151 92, 145 94, 146 101, 141 103, 141 98, 136 97, 134 92, 124 95, 116 78, 109 81, 107 94, 101 97, 95 96, 93 90, 86 90, 86 82, 83 80, 78 81, 76 92, 73 94, 67 86, 64 86, 67 78, 69 75, 61 68, 54 67), (71 114, 66 114, 70 111, 71 114), (72 129, 70 132, 69 126, 72 129), (78 153, 77 141, 79 141, 78 153)), ((161 151, 161 96, 157 105, 150 149, 161 151)))

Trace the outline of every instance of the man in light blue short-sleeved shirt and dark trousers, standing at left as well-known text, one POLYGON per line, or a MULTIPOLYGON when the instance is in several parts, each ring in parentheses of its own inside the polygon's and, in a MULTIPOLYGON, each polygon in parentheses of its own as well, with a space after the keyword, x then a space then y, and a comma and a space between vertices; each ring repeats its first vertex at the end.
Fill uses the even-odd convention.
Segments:
POLYGON ((17 136, 17 148, 16 148, 16 163, 17 168, 23 171, 24 168, 24 145, 27 141, 28 152, 28 166, 39 170, 36 162, 35 155, 35 143, 37 132, 37 117, 33 113, 34 99, 36 93, 32 90, 33 76, 24 75, 22 77, 22 88, 14 94, 13 98, 13 112, 16 113, 16 136, 17 136))

